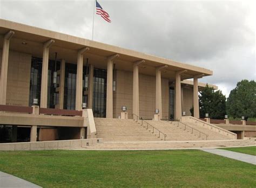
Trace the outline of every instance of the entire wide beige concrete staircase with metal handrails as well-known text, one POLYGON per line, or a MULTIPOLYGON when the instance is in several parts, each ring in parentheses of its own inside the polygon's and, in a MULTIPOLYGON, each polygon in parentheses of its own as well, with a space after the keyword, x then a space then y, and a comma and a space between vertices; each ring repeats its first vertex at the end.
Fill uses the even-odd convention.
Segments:
MULTIPOLYGON (((103 142, 86 145, 78 150, 165 150, 165 149, 197 149, 197 148, 221 148, 244 147, 255 145, 255 140, 235 140, 234 135, 227 135, 226 130, 204 125, 203 122, 187 121, 168 122, 139 120, 120 120, 95 118, 97 137, 103 138, 103 142), (154 127, 148 126, 147 123, 154 127), (184 124, 187 124, 185 129, 184 124), (190 127, 188 127, 188 125, 190 127), (191 131, 193 128, 193 133, 191 131), (213 129, 212 129, 213 128, 213 129), (163 134, 166 134, 164 141, 163 134), (201 131, 199 132, 195 129, 201 131), (206 137, 203 133, 207 134, 206 137), (233 139, 231 138, 233 136, 233 139)), ((232 133, 233 134, 233 133, 232 133)))

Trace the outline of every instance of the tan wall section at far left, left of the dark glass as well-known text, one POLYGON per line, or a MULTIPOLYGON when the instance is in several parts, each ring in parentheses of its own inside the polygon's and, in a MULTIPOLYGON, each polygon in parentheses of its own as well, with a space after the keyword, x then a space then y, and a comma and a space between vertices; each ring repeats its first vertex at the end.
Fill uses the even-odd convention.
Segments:
MULTIPOLYGON (((2 50, 0 50, 0 75, 2 50)), ((28 106, 31 55, 10 51, 7 75, 6 105, 28 106)))

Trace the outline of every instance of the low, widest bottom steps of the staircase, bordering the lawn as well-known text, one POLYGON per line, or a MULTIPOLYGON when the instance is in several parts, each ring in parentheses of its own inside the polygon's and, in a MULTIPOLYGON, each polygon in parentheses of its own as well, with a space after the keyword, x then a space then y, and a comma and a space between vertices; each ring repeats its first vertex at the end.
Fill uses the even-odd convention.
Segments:
POLYGON ((254 140, 211 140, 211 141, 147 141, 147 142, 104 142, 78 150, 166 150, 245 147, 255 145, 254 140))

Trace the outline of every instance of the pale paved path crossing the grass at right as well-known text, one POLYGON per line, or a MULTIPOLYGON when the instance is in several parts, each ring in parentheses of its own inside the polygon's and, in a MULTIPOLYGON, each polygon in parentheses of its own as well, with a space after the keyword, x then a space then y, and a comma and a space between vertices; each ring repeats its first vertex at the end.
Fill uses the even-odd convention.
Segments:
POLYGON ((222 150, 222 149, 200 149, 202 151, 209 152, 211 154, 221 155, 224 157, 232 158, 238 161, 251 163, 256 165, 256 156, 248 155, 248 154, 241 154, 239 152, 222 150))

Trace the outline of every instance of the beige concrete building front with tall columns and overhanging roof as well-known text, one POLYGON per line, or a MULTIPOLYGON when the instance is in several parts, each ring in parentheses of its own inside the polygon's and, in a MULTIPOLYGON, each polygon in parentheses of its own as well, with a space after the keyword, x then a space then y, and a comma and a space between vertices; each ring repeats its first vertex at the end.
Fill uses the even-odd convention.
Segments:
MULTIPOLYGON (((199 118, 198 90, 205 84, 198 79, 213 74, 3 19, 0 61, 0 105, 29 107, 37 99, 40 108, 79 111, 84 103, 95 117, 107 118, 119 118, 122 106, 127 107, 129 119, 134 115, 153 119, 158 109, 160 119, 180 120, 182 112, 190 115, 192 106, 199 118)), ((49 130, 51 126, 49 122, 49 130)), ((41 133, 41 137, 46 134, 41 133)), ((55 134, 56 129, 51 135, 55 134)))

